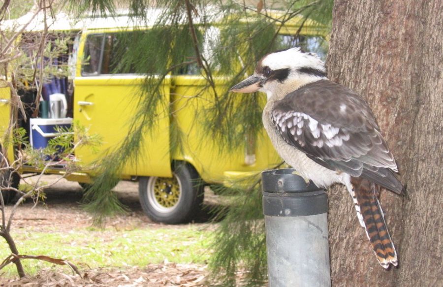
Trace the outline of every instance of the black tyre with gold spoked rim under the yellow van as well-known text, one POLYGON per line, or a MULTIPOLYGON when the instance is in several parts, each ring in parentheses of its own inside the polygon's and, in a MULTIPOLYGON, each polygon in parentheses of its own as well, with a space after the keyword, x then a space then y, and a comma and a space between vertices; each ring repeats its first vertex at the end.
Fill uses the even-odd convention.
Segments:
POLYGON ((177 163, 173 174, 173 178, 140 177, 140 204, 155 222, 187 223, 201 210, 204 187, 197 171, 190 164, 177 163))

